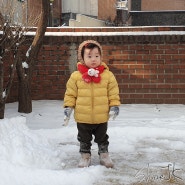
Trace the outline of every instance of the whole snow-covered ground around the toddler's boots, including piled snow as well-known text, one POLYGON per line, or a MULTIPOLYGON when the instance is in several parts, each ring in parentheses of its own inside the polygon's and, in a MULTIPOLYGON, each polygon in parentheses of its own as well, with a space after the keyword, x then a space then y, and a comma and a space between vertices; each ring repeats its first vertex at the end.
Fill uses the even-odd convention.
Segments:
POLYGON ((33 101, 33 112, 6 104, 0 120, 0 185, 185 184, 185 105, 121 105, 109 122, 109 152, 115 168, 79 169, 73 118, 63 124, 62 101, 33 101))

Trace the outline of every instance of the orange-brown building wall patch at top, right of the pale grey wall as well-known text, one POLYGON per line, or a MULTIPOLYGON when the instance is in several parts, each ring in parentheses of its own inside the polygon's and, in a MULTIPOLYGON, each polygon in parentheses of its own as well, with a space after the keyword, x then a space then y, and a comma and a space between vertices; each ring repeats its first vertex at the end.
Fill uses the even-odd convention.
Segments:
POLYGON ((98 0, 98 19, 113 21, 116 17, 117 0, 98 0))

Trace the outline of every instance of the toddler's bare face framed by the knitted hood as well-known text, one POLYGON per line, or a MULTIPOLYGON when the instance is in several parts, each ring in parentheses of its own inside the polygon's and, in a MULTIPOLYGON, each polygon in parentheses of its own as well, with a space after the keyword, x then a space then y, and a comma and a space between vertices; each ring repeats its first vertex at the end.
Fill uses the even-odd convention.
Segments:
POLYGON ((89 68, 98 67, 101 63, 101 55, 97 47, 93 49, 85 48, 84 50, 84 62, 89 68))

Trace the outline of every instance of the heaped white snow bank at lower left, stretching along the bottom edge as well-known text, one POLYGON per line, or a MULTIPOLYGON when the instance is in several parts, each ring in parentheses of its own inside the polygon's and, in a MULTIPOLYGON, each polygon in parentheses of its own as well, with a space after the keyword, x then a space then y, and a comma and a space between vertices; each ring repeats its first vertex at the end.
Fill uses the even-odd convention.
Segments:
POLYGON ((64 170, 66 151, 22 116, 0 120, 0 149, 0 185, 87 185, 102 174, 100 166, 64 170))

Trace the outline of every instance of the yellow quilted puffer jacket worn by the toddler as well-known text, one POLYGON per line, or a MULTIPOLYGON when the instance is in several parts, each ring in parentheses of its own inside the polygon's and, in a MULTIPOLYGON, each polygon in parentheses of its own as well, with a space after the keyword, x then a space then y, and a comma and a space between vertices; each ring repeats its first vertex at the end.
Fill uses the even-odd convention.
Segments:
POLYGON ((75 71, 71 74, 64 97, 64 107, 74 108, 74 118, 78 123, 99 124, 109 119, 111 106, 119 106, 119 88, 117 81, 108 66, 101 73, 99 83, 86 83, 82 74, 75 71))

